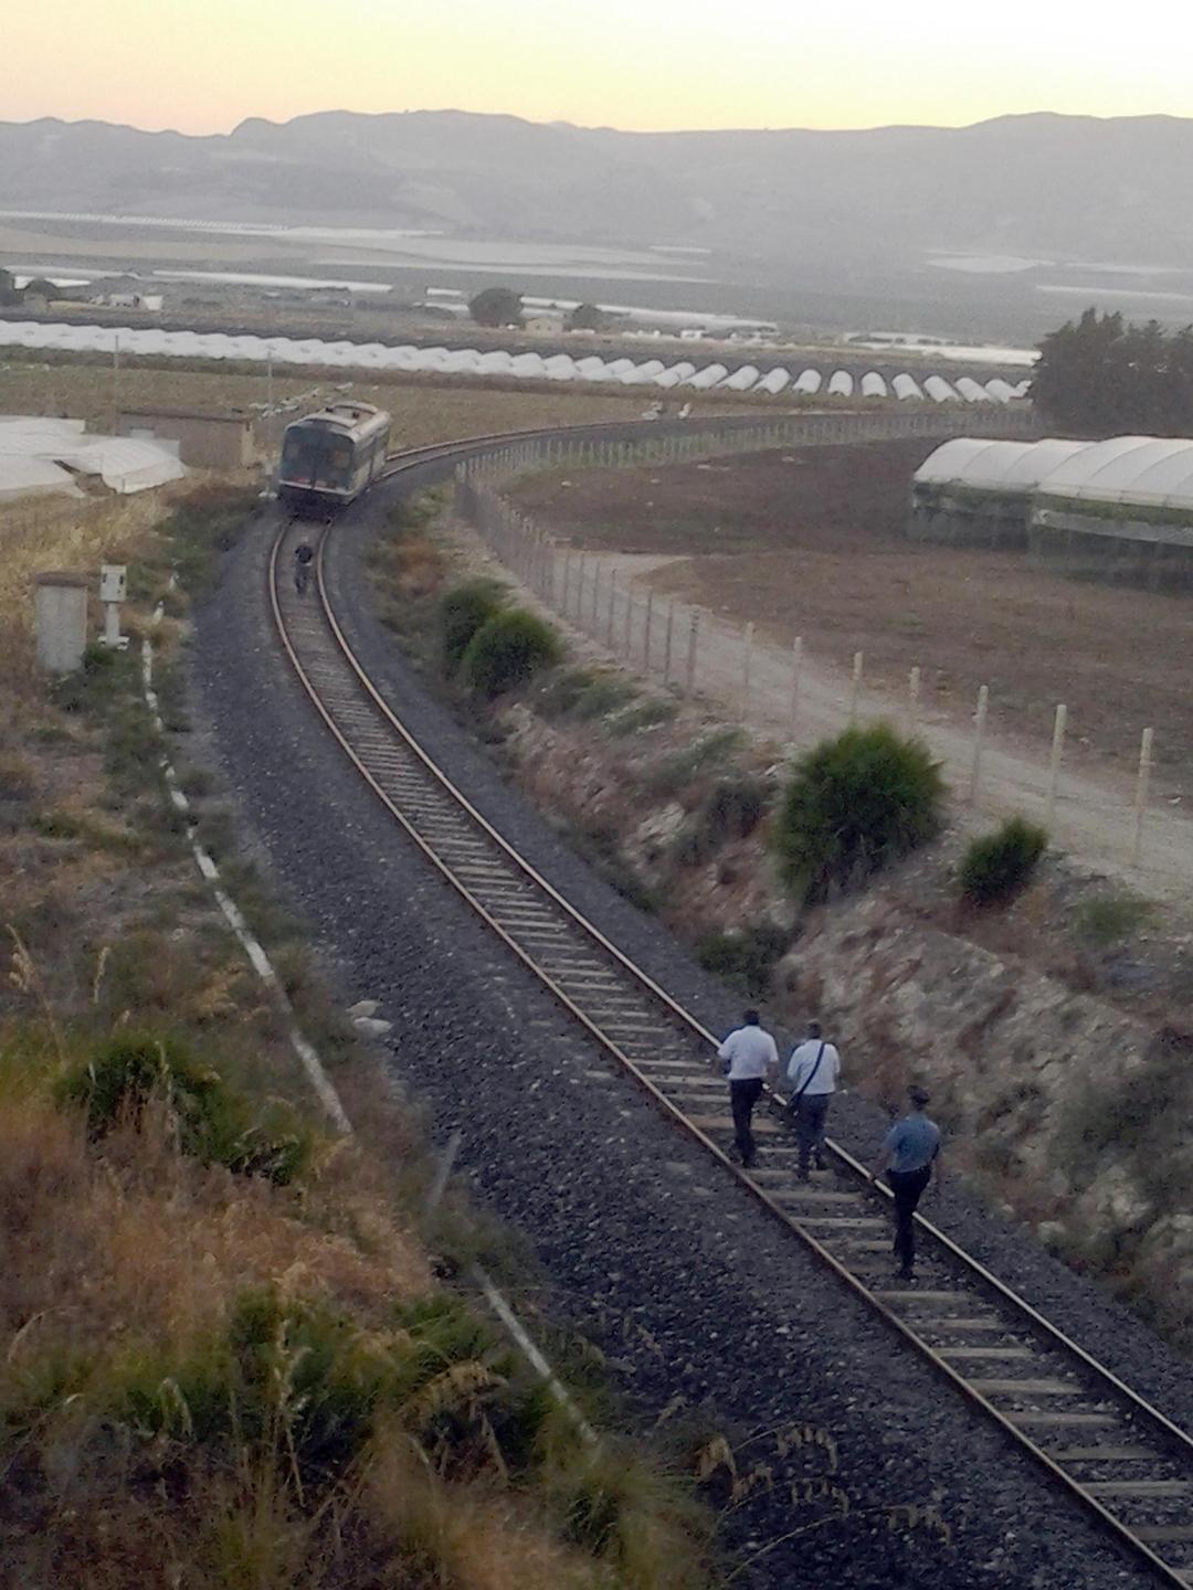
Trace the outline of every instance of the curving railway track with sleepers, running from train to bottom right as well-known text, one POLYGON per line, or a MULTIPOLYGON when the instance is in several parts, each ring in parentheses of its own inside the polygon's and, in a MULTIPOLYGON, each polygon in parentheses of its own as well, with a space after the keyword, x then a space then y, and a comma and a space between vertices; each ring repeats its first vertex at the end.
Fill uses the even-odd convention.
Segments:
MULTIPOLYGON (((458 447, 402 455, 388 477, 458 447)), ((337 622, 326 531, 304 598, 290 580, 291 522, 277 531, 269 599, 290 665, 358 774, 428 863, 480 916, 601 1051, 735 1177, 760 1210, 830 1269, 1090 1509, 1160 1584, 1193 1587, 1193 1437, 1053 1326, 923 1216, 915 1285, 892 1282, 886 1189, 838 1143, 832 1165, 795 1177, 783 1100, 756 1123, 764 1169, 730 1159, 716 1038, 576 911, 469 803, 390 711, 337 622)), ((307 534, 307 533, 304 533, 307 534)))

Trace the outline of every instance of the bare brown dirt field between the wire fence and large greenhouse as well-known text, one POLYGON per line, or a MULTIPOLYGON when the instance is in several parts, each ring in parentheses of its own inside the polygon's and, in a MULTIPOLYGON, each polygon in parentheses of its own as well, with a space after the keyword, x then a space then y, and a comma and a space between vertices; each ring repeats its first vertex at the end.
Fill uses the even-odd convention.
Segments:
MULTIPOLYGON (((1156 731, 1156 793, 1193 797, 1188 649, 1193 601, 1061 579, 1026 553, 903 539, 908 479, 926 442, 797 448, 711 466, 577 474, 523 483, 519 506, 562 539, 673 561, 651 584, 902 700, 958 720, 989 685, 991 731, 1047 754, 1058 701, 1069 755, 1134 765, 1156 731)), ((1187 797, 1187 798, 1190 798, 1187 797)))

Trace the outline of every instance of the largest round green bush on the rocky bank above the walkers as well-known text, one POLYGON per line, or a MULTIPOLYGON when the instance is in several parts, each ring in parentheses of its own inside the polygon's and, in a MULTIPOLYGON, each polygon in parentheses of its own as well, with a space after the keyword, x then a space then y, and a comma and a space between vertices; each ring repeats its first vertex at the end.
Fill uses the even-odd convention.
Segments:
POLYGON ((795 763, 775 822, 786 882, 824 900, 907 855, 940 827, 940 766, 886 723, 848 728, 795 763))

